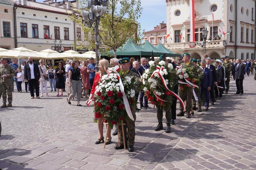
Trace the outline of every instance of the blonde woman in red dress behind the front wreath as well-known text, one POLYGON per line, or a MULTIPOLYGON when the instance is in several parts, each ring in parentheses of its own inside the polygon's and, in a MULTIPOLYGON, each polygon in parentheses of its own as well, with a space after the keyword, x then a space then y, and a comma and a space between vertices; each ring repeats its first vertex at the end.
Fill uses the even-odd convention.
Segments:
MULTIPOLYGON (((97 84, 99 83, 99 80, 101 79, 101 76, 103 74, 107 74, 106 71, 108 70, 109 63, 106 59, 101 59, 99 61, 99 71, 95 74, 93 87, 91 88, 91 94, 88 100, 86 100, 86 105, 88 104, 89 100, 91 100, 94 96, 95 88, 97 84)), ((98 118, 98 129, 99 129, 99 138, 95 141, 95 144, 103 143, 104 137, 103 137, 103 117, 102 115, 95 114, 95 118, 98 118)), ((108 125, 106 124, 106 128, 108 128, 108 125)), ((106 145, 111 143, 111 128, 108 130, 108 136, 106 138, 106 145)))

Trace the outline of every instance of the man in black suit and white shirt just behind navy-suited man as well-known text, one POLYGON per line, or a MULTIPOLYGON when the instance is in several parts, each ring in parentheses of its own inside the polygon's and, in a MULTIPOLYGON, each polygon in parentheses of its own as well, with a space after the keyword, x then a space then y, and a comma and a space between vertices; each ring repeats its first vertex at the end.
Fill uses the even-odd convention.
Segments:
POLYGON ((212 100, 212 105, 214 105, 214 102, 216 102, 215 100, 215 95, 214 95, 214 86, 216 85, 217 86, 217 73, 216 73, 216 69, 215 69, 215 66, 212 65, 212 59, 210 57, 207 57, 206 58, 206 67, 209 68, 211 70, 211 73, 212 73, 212 85, 211 85, 211 90, 210 90, 210 98, 212 100))

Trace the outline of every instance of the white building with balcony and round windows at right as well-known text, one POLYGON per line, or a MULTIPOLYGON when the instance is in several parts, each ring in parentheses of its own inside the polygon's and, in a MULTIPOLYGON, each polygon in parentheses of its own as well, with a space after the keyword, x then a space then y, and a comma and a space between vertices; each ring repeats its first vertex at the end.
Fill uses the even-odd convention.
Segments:
POLYGON ((219 58, 229 55, 229 57, 241 59, 255 58, 255 0, 195 0, 194 48, 190 48, 189 45, 189 0, 166 0, 166 5, 167 34, 170 33, 170 37, 167 38, 165 46, 173 52, 180 54, 188 52, 193 58, 203 56, 202 29, 205 27, 209 30, 207 38, 212 35, 213 10, 213 37, 216 38, 206 42, 208 56, 219 58), (219 28, 226 35, 223 36, 219 28))

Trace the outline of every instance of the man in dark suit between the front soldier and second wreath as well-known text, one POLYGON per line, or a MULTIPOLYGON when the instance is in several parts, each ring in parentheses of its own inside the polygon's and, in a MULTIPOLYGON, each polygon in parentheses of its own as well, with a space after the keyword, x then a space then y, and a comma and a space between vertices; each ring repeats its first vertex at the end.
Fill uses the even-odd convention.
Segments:
MULTIPOLYGON (((142 57, 140 59, 141 61, 141 65, 138 67, 138 71, 140 72, 140 75, 143 74, 143 72, 149 68, 149 66, 147 65, 147 59, 142 57)), ((144 96, 144 91, 141 90, 140 91, 140 108, 141 109, 148 109, 148 108, 151 108, 148 106, 148 98, 144 96), (144 98, 144 105, 143 105, 143 98, 144 98)))

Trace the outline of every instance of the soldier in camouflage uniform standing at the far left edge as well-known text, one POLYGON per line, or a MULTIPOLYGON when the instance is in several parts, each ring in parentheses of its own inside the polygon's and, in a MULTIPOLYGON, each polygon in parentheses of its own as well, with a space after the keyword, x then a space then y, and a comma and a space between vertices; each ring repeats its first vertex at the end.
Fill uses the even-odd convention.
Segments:
POLYGON ((12 77, 15 75, 15 71, 12 66, 8 65, 7 58, 2 58, 2 65, 0 65, 0 82, 2 85, 3 107, 12 107, 12 77), (6 99, 8 95, 8 105, 6 105, 6 99))

